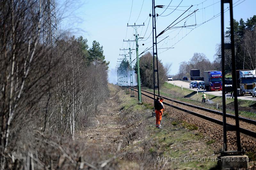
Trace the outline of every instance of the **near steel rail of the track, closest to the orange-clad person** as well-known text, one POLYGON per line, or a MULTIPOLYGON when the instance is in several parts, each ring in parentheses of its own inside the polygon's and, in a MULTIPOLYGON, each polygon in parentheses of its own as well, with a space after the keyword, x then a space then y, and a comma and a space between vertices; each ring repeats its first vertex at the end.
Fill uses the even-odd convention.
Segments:
MULTIPOLYGON (((130 87, 128 87, 128 88, 131 89, 130 87)), ((134 89, 135 89, 135 88, 134 88, 134 89)), ((134 89, 133 89, 133 90, 134 90, 134 89)), ((138 92, 137 90, 134 90, 134 91, 138 92)), ((144 91, 144 90, 143 90, 143 91, 144 91)), ((151 98, 151 99, 154 100, 154 97, 148 96, 148 95, 146 95, 146 94, 144 94, 144 93, 141 93, 141 94, 144 95, 144 96, 146 96, 146 97, 148 97, 148 98, 151 98)), ((189 110, 180 108, 180 107, 178 107, 178 106, 174 106, 174 105, 169 104, 169 103, 163 102, 163 104, 165 104, 165 105, 167 105, 167 106, 170 106, 170 107, 173 107, 173 108, 175 108, 175 109, 178 109, 178 110, 180 110, 180 111, 187 112, 187 113, 192 114, 192 115, 194 115, 194 116, 203 118, 203 119, 205 119, 205 120, 209 120, 209 121, 211 121, 211 122, 213 122, 213 123, 217 123, 218 125, 223 125, 223 122, 220 121, 220 120, 217 120, 217 119, 214 119, 214 118, 211 118, 211 117, 208 117, 208 116, 205 116, 205 115, 196 113, 196 112, 192 112, 192 111, 189 111, 189 110)), ((228 124, 228 123, 227 123, 227 126, 228 126, 229 128, 235 128, 235 125, 231 125, 231 124, 228 124)), ((243 133, 243 134, 245 134, 245 135, 248 135, 248 136, 251 136, 251 137, 256 138, 256 132, 253 132, 253 131, 250 131, 250 130, 247 130, 247 129, 244 129, 244 128, 239 128, 239 130, 240 130, 241 133, 243 133)))

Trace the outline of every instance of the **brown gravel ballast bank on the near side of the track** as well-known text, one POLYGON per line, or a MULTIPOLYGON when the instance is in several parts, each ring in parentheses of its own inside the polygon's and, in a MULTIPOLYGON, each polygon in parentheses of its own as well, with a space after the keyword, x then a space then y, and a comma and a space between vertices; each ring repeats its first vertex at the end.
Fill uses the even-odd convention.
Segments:
MULTIPOLYGON (((145 94, 145 92, 142 90, 142 101, 153 104, 152 99, 150 97, 147 97, 147 95, 149 95, 149 94, 146 93, 146 96, 144 94, 145 94)), ((149 95, 149 96, 152 96, 152 95, 149 95)), ((168 103, 168 101, 166 101, 166 102, 168 103)), ((174 105, 176 105, 176 104, 174 104, 174 105)), ((181 106, 181 107, 183 108, 184 106, 181 106)), ((167 110, 166 114, 170 114, 172 116, 172 118, 177 119, 178 122, 173 122, 174 125, 176 125, 178 123, 187 122, 187 123, 191 124, 192 127, 197 127, 196 128, 197 131, 204 134, 204 136, 209 139, 209 141, 207 143, 213 143, 213 146, 215 146, 215 151, 219 152, 219 149, 221 148, 221 145, 222 145, 222 134, 223 134, 222 125, 218 125, 211 121, 204 120, 202 118, 188 114, 186 112, 182 112, 182 111, 174 109, 172 107, 166 107, 166 110, 167 110), (169 109, 170 109, 170 111, 169 111, 169 109)), ((190 108, 189 110, 192 112, 198 112, 198 110, 195 108, 190 108)), ((201 113, 201 111, 199 111, 198 113, 201 113)), ((211 115, 211 117, 212 116, 213 115, 211 115)), ((241 126, 242 126, 242 124, 241 124, 241 126)), ((254 126, 254 125, 246 124, 246 125, 243 125, 242 127, 249 128, 252 126, 254 126)), ((253 129, 253 131, 254 131, 254 129, 253 129)), ((242 143, 243 149, 245 150, 245 154, 247 154, 250 158, 251 167, 255 168, 256 139, 253 136, 241 134, 241 143, 242 143)), ((228 135, 228 148, 230 150, 236 149, 236 137, 235 137, 235 133, 233 133, 233 132, 229 133, 229 135, 228 135)))

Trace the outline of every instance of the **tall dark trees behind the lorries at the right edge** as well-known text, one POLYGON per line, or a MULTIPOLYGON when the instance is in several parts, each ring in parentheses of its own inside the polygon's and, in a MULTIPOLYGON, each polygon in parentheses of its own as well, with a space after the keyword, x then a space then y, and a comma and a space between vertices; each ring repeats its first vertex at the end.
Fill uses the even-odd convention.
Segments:
MULTIPOLYGON (((230 43, 230 27, 226 31, 226 43, 230 43)), ((234 19, 234 38, 236 69, 254 70, 256 68, 256 15, 244 21, 242 18, 234 19)), ((220 46, 217 48, 216 56, 221 58, 220 46)), ((231 71, 231 50, 225 50, 225 70, 231 71)))

